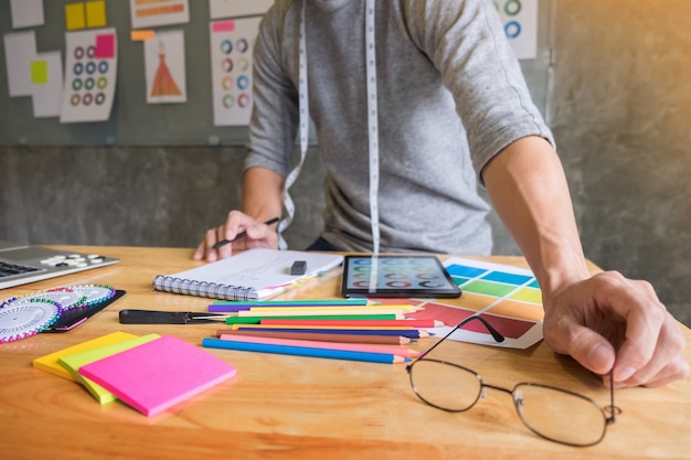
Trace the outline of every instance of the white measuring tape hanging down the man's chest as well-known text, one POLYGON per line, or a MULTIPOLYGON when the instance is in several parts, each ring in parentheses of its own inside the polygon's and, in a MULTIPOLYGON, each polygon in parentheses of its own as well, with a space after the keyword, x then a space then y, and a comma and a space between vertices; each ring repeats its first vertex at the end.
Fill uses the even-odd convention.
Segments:
MULTIPOLYGON (((376 50, 374 46, 374 0, 366 0, 365 14, 365 67, 366 67, 366 89, 368 89, 368 137, 370 157, 370 217, 372 227, 372 252, 379 254, 380 227, 379 227, 379 116, 376 105, 376 50)), ((307 0, 302 0, 302 11, 300 13, 300 47, 299 47, 299 125, 300 125, 300 162, 286 178, 286 192, 284 195, 284 206, 288 214, 278 224, 278 247, 288 247, 281 233, 293 222, 295 216, 295 204, 288 190, 297 180, 305 157, 307 156, 307 141, 309 136, 309 97, 307 82, 307 35, 305 32, 305 17, 307 11, 307 0)))

